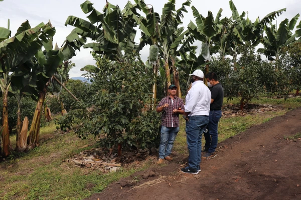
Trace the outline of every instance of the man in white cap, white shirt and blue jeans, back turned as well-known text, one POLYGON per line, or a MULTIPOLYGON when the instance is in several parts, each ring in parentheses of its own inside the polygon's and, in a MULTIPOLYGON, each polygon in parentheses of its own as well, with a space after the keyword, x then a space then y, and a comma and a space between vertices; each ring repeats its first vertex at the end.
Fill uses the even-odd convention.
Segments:
POLYGON ((209 121, 211 92, 204 84, 201 69, 192 74, 192 87, 186 95, 185 112, 187 145, 189 150, 188 166, 182 168, 184 173, 197 174, 200 169, 202 134, 209 121))

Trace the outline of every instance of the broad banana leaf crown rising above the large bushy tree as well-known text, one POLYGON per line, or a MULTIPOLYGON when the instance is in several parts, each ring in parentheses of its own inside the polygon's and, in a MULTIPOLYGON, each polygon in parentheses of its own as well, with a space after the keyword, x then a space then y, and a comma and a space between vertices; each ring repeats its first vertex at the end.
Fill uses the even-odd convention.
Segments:
POLYGON ((111 60, 118 62, 127 61, 124 55, 132 52, 136 23, 131 17, 123 13, 118 5, 107 2, 103 12, 96 10, 93 3, 86 0, 81 5, 89 21, 76 16, 68 16, 65 25, 75 28, 66 37, 67 46, 78 49, 91 48, 94 52, 106 55, 111 60), (92 42, 86 43, 87 38, 92 42))

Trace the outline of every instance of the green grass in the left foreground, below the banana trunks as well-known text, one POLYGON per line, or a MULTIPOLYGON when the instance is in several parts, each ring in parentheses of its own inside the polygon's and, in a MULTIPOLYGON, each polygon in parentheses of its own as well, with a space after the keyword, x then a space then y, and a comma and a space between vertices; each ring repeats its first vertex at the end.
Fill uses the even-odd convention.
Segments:
POLYGON ((152 164, 111 173, 78 168, 63 160, 97 144, 72 133, 55 134, 54 130, 54 124, 42 128, 39 147, 16 153, 7 162, 0 163, 0 199, 82 199, 152 164), (91 143, 89 147, 80 148, 91 143))

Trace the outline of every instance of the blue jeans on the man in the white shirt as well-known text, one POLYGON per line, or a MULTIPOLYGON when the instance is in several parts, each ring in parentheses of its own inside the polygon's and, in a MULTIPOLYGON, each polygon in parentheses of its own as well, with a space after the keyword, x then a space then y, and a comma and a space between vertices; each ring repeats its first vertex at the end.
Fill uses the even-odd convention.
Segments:
POLYGON ((188 167, 199 168, 201 162, 202 134, 208 124, 209 116, 189 116, 186 121, 186 137, 189 150, 188 167))

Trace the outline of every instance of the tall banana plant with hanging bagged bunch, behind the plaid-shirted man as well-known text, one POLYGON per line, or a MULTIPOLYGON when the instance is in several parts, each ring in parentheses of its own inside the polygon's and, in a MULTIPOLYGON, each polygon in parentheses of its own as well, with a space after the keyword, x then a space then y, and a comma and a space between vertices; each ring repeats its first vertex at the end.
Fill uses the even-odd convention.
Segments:
MULTIPOLYGON (((178 71, 175 67, 176 57, 178 55, 177 48, 181 44, 184 36, 188 34, 188 31, 184 31, 183 27, 180 27, 183 12, 187 12, 186 7, 190 6, 191 0, 187 0, 182 3, 179 9, 176 9, 176 0, 169 0, 163 9, 161 17, 157 12, 154 12, 154 8, 149 8, 148 5, 141 7, 140 9, 145 13, 145 17, 139 16, 143 27, 141 29, 141 39, 138 45, 138 50, 142 49, 144 45, 159 45, 160 46, 160 58, 164 62, 165 75, 167 80, 167 88, 171 84, 171 71, 174 73, 174 84, 178 86, 178 94, 181 96, 180 84, 178 77, 178 71)), ((160 66, 154 66, 154 73, 157 72, 160 66)), ((166 91, 167 91, 166 88, 166 91)), ((153 92, 156 92, 153 90, 153 92)), ((155 96, 154 96, 155 97, 155 96)), ((155 97, 156 98, 156 97, 155 97)))

